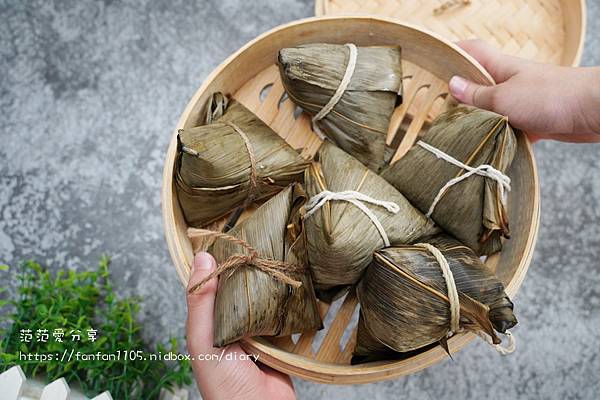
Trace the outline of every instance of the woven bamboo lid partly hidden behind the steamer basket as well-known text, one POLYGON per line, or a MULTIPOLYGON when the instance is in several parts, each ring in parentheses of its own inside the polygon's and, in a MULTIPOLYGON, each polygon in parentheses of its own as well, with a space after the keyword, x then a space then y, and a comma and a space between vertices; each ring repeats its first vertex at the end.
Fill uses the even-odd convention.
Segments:
POLYGON ((378 15, 425 27, 449 40, 480 38, 531 60, 577 66, 585 0, 316 0, 321 15, 378 15))

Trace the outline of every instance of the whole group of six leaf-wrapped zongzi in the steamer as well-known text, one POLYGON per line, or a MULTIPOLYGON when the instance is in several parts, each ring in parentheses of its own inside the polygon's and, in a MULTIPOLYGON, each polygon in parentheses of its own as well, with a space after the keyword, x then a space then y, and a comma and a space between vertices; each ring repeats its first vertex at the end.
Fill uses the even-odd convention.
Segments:
POLYGON ((312 162, 221 93, 201 126, 179 131, 175 187, 190 226, 269 199, 227 232, 190 229, 213 239, 204 244, 218 267, 190 290, 219 276, 215 346, 320 329, 317 298, 349 288, 361 307, 353 363, 438 344, 449 351, 448 338, 462 331, 498 344, 497 333, 517 324, 504 285, 479 257, 509 237, 515 134, 501 115, 458 106, 387 165, 400 53, 353 44, 280 50, 287 95, 328 139, 312 162))

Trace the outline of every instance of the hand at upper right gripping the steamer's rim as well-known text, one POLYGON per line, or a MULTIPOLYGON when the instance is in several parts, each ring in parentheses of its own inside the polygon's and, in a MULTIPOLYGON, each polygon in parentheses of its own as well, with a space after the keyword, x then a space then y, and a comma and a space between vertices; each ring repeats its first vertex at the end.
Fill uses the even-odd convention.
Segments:
POLYGON ((481 86, 455 76, 449 88, 458 101, 508 116, 533 140, 600 142, 600 68, 540 64, 481 40, 458 45, 497 83, 481 86))

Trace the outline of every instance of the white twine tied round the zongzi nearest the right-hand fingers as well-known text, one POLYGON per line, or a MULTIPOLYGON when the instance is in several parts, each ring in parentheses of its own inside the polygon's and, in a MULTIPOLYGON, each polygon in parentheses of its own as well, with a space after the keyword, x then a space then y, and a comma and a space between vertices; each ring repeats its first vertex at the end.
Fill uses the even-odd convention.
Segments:
POLYGON ((444 193, 446 193, 448 189, 472 175, 480 175, 486 178, 491 178, 498 182, 498 187, 500 190, 500 201, 502 202, 502 205, 506 207, 507 192, 510 192, 510 178, 508 176, 504 175, 502 172, 498 171, 496 168, 492 167, 489 164, 481 164, 478 167, 471 167, 465 163, 458 161, 454 157, 444 153, 440 149, 423 142, 422 140, 419 140, 417 144, 425 150, 433 153, 437 158, 441 158, 442 160, 447 161, 450 164, 456 165, 457 167, 467 171, 463 175, 450 179, 439 190, 438 194, 435 196, 435 199, 433 199, 433 203, 431 203, 431 206, 429 207, 429 211, 427 211, 427 217, 431 217, 433 211, 435 210, 435 207, 437 206, 439 201, 444 196, 444 193))

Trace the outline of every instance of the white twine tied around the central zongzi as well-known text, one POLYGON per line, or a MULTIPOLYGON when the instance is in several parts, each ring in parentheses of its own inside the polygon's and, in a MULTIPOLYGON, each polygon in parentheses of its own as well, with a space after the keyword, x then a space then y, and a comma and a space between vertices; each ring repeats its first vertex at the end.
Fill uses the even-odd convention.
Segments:
POLYGON ((324 190, 308 200, 305 206, 306 214, 304 218, 310 217, 319 208, 323 207, 325 203, 333 200, 347 201, 348 203, 354 204, 356 207, 358 207, 363 213, 365 213, 367 217, 369 217, 371 222, 373 222, 373 225, 375 225, 379 231, 385 246, 390 246, 390 240, 385 233, 385 229, 383 229, 383 225, 381 225, 381 222, 377 216, 369 209, 369 207, 365 205, 365 203, 383 207, 393 214, 397 214, 400 211, 400 206, 398 206, 398 204, 394 203, 393 201, 377 200, 354 190, 346 190, 344 192, 331 192, 329 190, 324 190))

